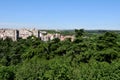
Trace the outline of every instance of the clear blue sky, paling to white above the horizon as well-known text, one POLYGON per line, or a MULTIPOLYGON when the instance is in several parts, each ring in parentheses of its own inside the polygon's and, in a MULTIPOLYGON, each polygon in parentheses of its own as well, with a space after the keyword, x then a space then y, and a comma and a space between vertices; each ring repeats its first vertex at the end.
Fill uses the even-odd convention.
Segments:
POLYGON ((0 28, 120 30, 120 0, 0 0, 0 28))

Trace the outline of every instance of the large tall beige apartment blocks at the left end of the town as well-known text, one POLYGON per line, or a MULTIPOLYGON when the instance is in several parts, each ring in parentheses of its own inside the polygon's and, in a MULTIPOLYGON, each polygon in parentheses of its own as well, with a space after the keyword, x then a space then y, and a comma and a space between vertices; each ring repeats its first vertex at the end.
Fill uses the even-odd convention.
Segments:
POLYGON ((0 38, 5 40, 7 37, 16 41, 18 38, 27 39, 29 36, 38 36, 38 30, 35 29, 0 29, 0 38))

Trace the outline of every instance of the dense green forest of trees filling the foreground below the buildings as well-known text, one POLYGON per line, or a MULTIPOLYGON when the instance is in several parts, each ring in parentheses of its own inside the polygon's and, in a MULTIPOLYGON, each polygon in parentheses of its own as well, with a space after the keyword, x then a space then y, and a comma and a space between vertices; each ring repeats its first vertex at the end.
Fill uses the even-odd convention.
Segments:
POLYGON ((120 80, 120 34, 75 30, 75 40, 0 39, 0 80, 120 80))

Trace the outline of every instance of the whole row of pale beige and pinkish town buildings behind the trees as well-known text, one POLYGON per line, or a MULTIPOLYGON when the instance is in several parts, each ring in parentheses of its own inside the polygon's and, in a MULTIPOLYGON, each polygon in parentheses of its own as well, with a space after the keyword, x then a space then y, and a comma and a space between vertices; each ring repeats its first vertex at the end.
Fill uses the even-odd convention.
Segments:
POLYGON ((58 33, 50 34, 46 31, 40 31, 37 29, 0 29, 0 38, 3 40, 9 37, 13 41, 16 41, 18 38, 27 39, 32 35, 43 41, 53 40, 54 38, 59 38, 61 41, 66 38, 71 38, 71 40, 74 39, 74 36, 62 36, 58 33))

